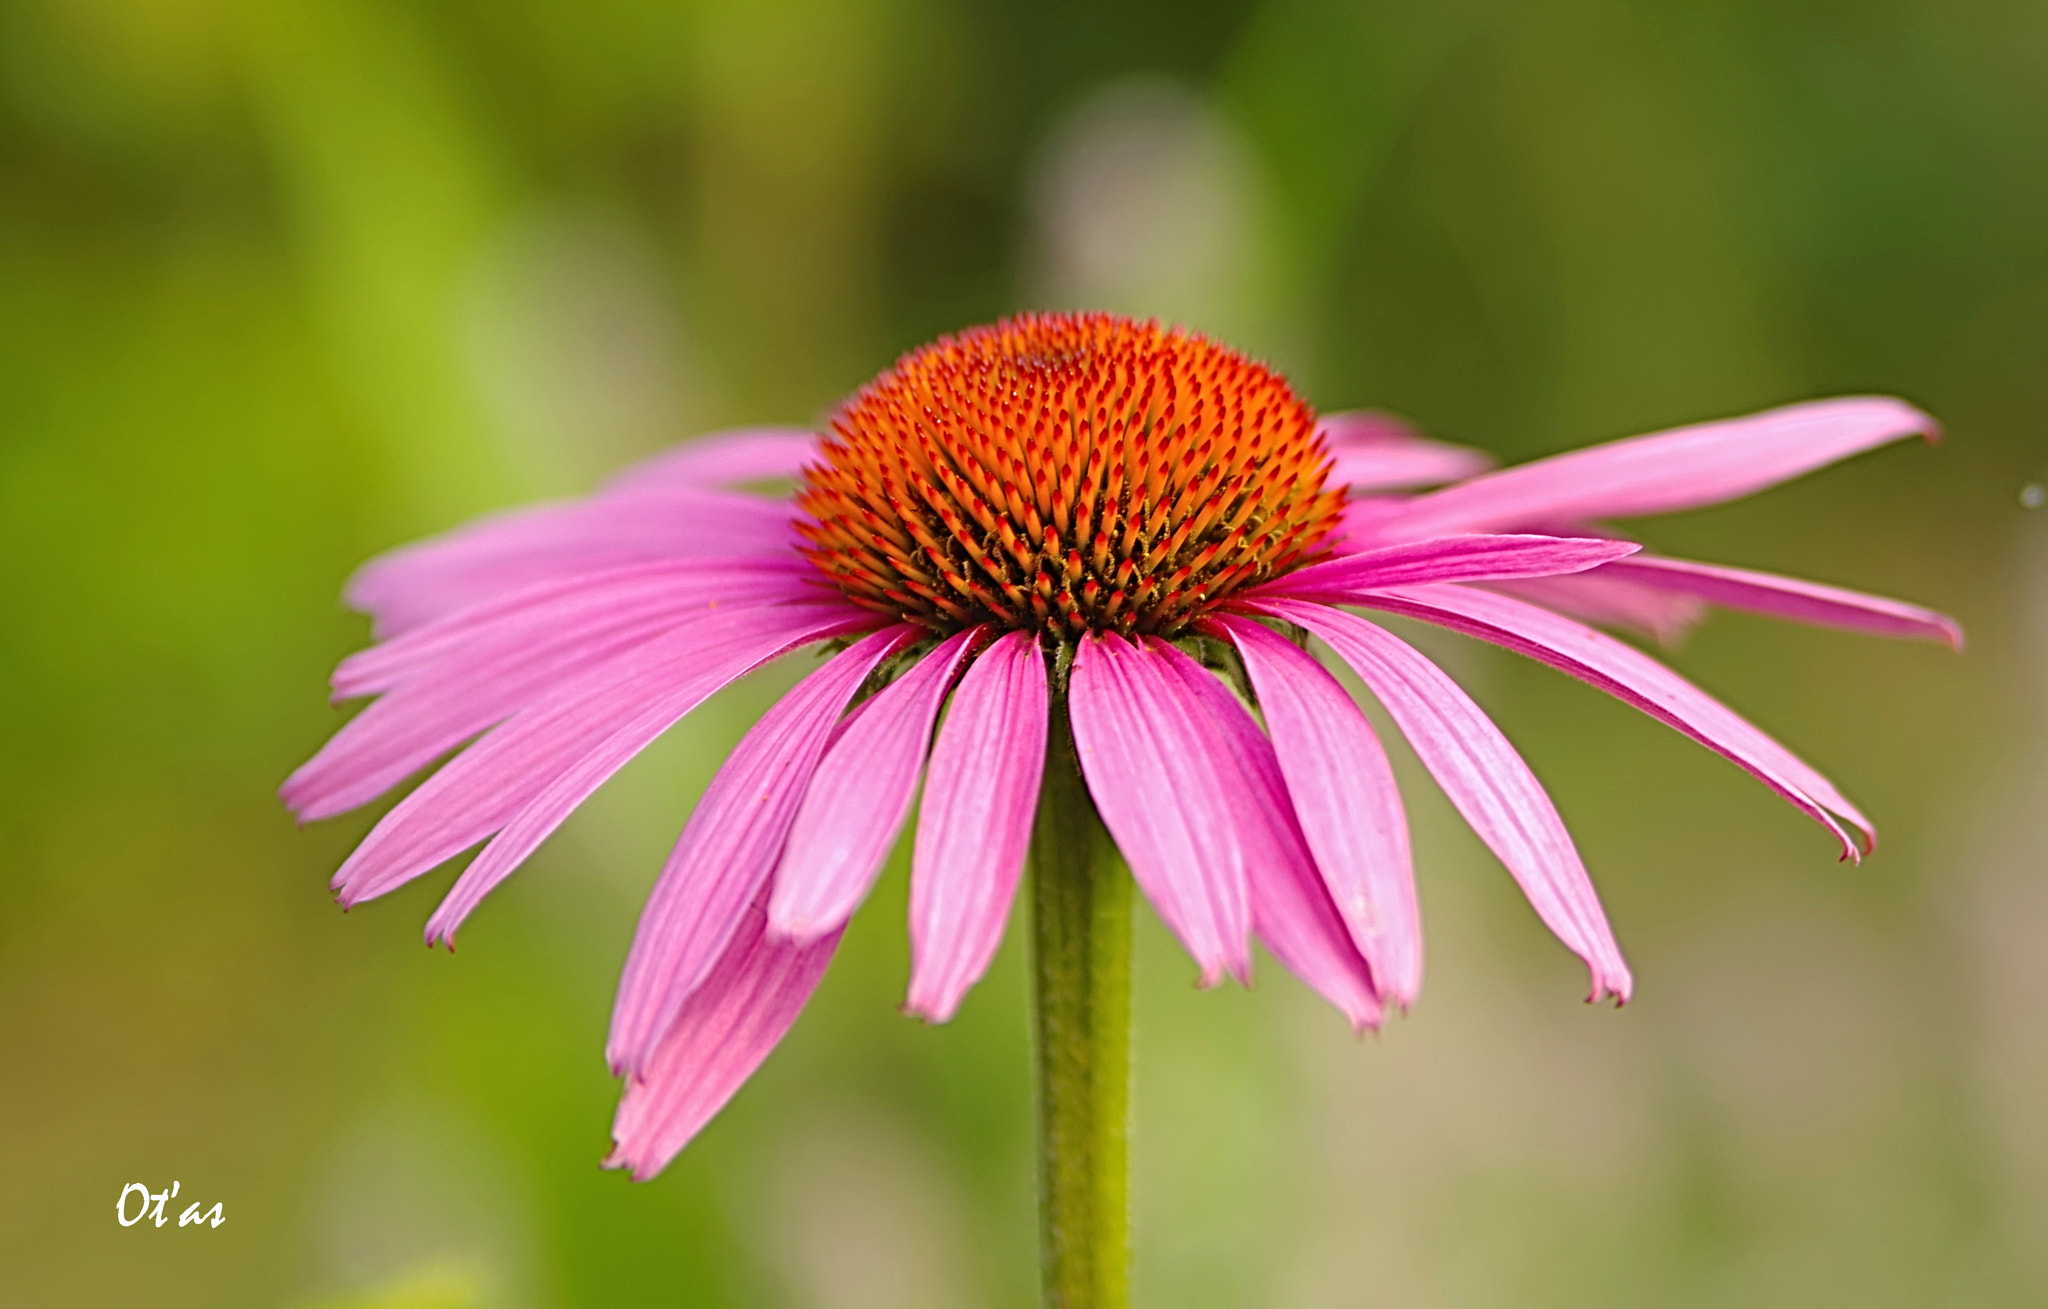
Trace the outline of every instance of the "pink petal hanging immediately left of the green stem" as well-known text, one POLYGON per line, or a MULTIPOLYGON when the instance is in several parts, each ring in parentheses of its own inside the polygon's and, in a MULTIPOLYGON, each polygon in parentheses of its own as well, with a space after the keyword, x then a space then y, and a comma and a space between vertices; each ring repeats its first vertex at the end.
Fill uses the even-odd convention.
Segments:
POLYGON ((1012 631, 952 692, 926 768, 909 875, 909 996, 946 1022, 1004 938, 1044 774, 1044 656, 1012 631))

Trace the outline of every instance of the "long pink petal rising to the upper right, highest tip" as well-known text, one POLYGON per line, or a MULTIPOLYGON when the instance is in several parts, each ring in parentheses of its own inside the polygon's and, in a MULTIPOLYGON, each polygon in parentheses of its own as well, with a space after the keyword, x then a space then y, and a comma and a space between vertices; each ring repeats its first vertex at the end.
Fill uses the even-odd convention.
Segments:
POLYGON ((1409 502, 1380 531, 1415 539, 1669 514, 1737 500, 1905 436, 1937 434, 1933 418, 1888 395, 1815 399, 1487 473, 1409 502))

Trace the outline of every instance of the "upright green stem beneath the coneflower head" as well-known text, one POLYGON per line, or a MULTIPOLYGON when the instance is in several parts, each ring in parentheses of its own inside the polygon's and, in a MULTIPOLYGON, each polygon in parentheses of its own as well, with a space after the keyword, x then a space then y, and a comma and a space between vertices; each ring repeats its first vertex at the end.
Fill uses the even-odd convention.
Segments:
POLYGON ((1038 1256, 1047 1309, 1124 1309, 1130 875, 1053 705, 1032 830, 1038 1256))

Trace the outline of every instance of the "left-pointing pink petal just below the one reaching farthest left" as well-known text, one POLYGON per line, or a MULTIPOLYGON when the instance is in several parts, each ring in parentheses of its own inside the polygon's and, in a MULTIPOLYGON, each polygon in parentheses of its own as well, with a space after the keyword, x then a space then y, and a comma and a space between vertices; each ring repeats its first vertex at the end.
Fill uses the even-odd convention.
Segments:
POLYGON ((553 690, 420 783, 334 875, 342 905, 401 887, 504 828, 557 776, 641 715, 670 721, 770 660, 872 627, 846 604, 715 615, 553 690))

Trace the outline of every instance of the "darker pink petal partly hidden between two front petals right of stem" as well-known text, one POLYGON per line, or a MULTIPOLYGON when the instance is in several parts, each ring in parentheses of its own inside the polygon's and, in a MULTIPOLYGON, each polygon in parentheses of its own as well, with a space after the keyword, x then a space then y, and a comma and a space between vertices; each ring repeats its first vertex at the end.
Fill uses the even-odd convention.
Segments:
MULTIPOLYGON (((1157 645, 1180 656, 1163 641, 1157 645)), ((1223 778, 1214 803, 1237 813, 1245 838, 1251 930, 1274 959, 1350 1018, 1352 1030, 1378 1026, 1382 1010, 1372 969, 1352 944, 1303 842, 1272 742, 1208 670, 1186 656, 1174 668, 1192 694, 1192 709, 1223 744, 1214 756, 1223 778)))

